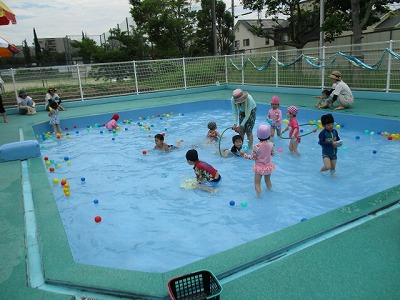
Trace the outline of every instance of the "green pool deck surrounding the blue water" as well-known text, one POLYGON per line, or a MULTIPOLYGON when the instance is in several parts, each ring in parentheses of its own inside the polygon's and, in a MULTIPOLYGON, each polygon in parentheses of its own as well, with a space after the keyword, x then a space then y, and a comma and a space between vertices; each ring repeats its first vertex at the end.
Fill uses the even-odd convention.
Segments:
MULTIPOLYGON (((132 95, 126 96, 128 100, 125 101, 105 99, 66 103, 67 111, 60 113, 61 125, 63 119, 78 116, 229 99, 234 88, 132 95)), ((259 103, 269 103, 272 95, 279 95, 274 89, 264 91, 261 87, 248 87, 248 90, 259 103)), ((292 94, 285 92, 280 97, 281 105, 315 109, 312 95, 319 93, 317 89, 292 94)), ((360 97, 353 108, 336 113, 400 121, 400 96, 397 94, 389 100, 379 96, 376 99, 360 97)), ((25 139, 35 139, 32 125, 49 120, 44 111, 34 116, 8 114, 8 119, 9 123, 0 123, 0 144, 19 141, 20 130, 25 139)), ((400 142, 394 142, 400 147, 400 142)), ((27 245, 32 240, 25 236, 21 162, 0 163, 0 299, 81 299, 86 291, 96 293, 95 299, 108 299, 112 295, 168 299, 168 279, 200 269, 211 270, 218 276, 223 286, 223 300, 400 299, 400 186, 235 249, 158 274, 76 264, 42 160, 34 158, 26 162, 46 284, 35 288, 29 286, 26 258, 27 245), (381 212, 380 209, 385 207, 390 208, 381 212), (360 222, 340 231, 342 226, 353 224, 353 220, 360 222), (316 239, 318 242, 313 243, 316 239), (296 247, 298 251, 291 253, 296 247), (58 287, 71 288, 71 292, 58 290, 58 287)), ((388 172, 398 176, 398 170, 388 172)), ((376 176, 379 184, 379 174, 365 175, 376 176)))

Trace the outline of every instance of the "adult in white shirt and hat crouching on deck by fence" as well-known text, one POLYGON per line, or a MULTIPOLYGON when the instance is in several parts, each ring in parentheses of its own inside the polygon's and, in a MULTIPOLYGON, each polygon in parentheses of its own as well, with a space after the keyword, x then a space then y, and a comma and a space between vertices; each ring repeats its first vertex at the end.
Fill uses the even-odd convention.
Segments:
POLYGON ((332 71, 329 78, 333 80, 332 100, 330 100, 330 103, 333 104, 336 100, 339 103, 339 106, 335 110, 351 107, 354 103, 353 93, 349 86, 342 80, 342 74, 339 71, 332 71))

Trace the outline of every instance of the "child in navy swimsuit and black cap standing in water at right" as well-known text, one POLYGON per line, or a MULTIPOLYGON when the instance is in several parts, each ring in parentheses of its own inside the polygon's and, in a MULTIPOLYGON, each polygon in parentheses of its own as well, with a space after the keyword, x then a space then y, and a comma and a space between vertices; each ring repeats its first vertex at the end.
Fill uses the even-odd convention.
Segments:
POLYGON ((331 170, 332 174, 335 172, 336 168, 337 147, 342 145, 337 130, 333 128, 334 123, 335 120, 331 114, 323 115, 321 117, 321 124, 324 129, 318 136, 318 143, 322 147, 322 160, 324 162, 320 171, 331 170))

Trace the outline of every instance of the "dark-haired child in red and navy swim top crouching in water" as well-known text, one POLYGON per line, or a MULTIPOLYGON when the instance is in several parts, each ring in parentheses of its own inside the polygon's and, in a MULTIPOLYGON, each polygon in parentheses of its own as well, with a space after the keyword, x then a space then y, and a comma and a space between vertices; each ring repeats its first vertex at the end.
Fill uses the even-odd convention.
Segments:
POLYGON ((221 181, 221 175, 219 175, 218 171, 208 163, 199 160, 195 149, 186 152, 186 161, 189 165, 194 166, 193 170, 199 184, 198 188, 208 192, 217 192, 216 186, 221 181))

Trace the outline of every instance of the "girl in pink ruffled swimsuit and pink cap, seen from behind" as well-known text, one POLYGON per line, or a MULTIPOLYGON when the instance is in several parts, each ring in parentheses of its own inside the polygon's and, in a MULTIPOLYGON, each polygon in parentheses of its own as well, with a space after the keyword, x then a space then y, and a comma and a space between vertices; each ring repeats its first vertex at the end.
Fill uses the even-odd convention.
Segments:
POLYGON ((257 129, 257 137, 259 142, 254 146, 251 155, 242 152, 242 155, 248 159, 254 159, 254 188, 258 198, 261 198, 261 177, 267 189, 272 188, 271 172, 275 169, 275 165, 271 162, 271 156, 274 155, 274 144, 269 141, 271 129, 269 125, 261 125, 257 129))

